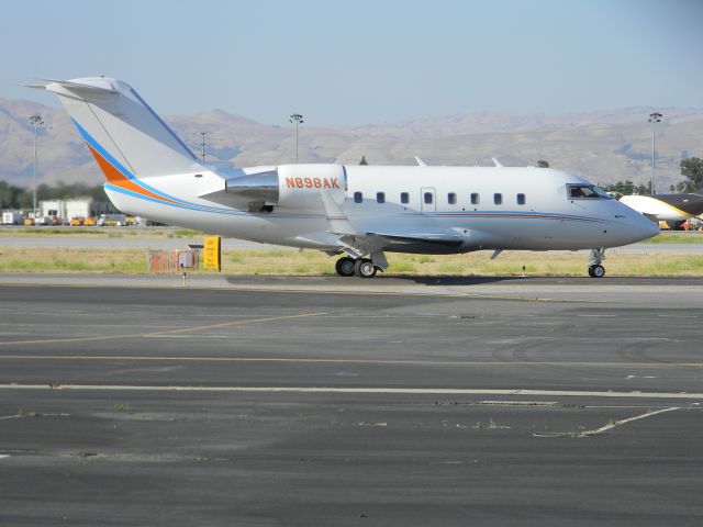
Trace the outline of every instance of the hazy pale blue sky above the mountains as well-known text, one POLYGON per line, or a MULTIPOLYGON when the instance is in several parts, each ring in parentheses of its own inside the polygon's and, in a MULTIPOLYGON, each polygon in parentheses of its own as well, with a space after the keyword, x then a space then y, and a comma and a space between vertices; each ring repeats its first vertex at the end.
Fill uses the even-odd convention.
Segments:
POLYGON ((0 8, 0 97, 105 75, 161 113, 272 124, 481 110, 703 108, 701 0, 23 0, 0 8))

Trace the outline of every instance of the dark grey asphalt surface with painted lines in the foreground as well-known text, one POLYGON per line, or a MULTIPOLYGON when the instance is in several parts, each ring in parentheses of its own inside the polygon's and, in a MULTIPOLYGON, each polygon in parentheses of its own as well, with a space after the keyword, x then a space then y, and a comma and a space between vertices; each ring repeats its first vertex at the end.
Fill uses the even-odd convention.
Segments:
POLYGON ((703 279, 0 282, 0 525, 703 522, 703 279))

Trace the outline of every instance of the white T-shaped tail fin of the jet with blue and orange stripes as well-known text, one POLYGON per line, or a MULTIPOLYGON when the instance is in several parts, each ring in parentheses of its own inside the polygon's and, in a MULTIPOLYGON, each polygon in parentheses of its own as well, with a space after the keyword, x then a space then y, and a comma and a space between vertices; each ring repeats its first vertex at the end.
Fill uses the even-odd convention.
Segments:
POLYGON ((49 81, 45 88, 58 96, 109 182, 202 169, 126 82, 90 77, 49 81))

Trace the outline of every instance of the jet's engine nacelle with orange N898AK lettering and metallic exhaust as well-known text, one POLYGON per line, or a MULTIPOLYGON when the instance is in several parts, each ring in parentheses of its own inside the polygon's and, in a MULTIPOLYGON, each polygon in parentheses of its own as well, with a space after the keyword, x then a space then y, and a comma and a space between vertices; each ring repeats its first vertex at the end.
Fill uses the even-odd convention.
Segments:
POLYGON ((281 165, 276 170, 228 179, 226 192, 249 200, 249 210, 281 209, 324 211, 321 192, 342 204, 347 176, 343 165, 281 165))

